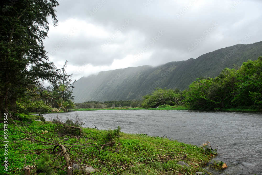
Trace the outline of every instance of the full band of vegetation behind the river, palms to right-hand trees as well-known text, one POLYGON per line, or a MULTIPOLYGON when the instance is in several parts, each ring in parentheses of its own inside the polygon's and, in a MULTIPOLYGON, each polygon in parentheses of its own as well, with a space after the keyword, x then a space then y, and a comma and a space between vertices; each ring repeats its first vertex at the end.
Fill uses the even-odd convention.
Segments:
POLYGON ((34 87, 16 101, 17 111, 48 112, 62 109, 174 109, 174 110, 261 110, 262 57, 241 67, 225 68, 215 78, 197 78, 187 89, 155 88, 142 100, 86 101, 73 103, 72 88, 60 84, 44 90, 34 87))

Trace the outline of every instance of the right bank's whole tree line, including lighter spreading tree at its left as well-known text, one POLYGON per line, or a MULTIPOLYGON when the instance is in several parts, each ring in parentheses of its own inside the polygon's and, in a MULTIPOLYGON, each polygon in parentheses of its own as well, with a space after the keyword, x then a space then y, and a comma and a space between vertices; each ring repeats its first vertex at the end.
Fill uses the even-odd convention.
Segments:
POLYGON ((236 69, 225 68, 215 78, 198 78, 183 92, 156 88, 143 98, 144 108, 184 105, 192 110, 262 110, 262 57, 236 69))

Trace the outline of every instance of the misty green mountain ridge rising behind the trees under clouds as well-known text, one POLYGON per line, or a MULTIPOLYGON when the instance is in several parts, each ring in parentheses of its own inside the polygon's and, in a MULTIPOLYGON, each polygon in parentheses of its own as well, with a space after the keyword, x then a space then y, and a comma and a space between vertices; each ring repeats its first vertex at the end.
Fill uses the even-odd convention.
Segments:
POLYGON ((74 101, 141 99, 156 87, 184 90, 200 77, 215 77, 225 68, 241 66, 262 56, 262 41, 215 50, 186 61, 173 61, 157 67, 139 66, 99 72, 80 78, 73 89, 74 101))

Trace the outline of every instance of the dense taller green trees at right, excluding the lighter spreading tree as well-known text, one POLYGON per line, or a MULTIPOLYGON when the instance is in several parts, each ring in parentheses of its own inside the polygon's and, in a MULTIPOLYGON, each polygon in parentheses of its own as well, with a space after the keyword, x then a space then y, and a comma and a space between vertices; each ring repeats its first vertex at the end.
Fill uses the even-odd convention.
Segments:
POLYGON ((218 77, 198 78, 183 91, 189 109, 262 109, 262 57, 218 77))

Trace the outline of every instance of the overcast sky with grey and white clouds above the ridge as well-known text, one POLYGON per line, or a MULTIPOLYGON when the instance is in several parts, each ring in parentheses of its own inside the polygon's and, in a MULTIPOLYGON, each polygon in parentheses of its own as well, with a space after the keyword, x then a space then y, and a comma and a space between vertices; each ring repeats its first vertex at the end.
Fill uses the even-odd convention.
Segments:
POLYGON ((73 80, 262 41, 261 0, 58 0, 49 61, 73 80))

